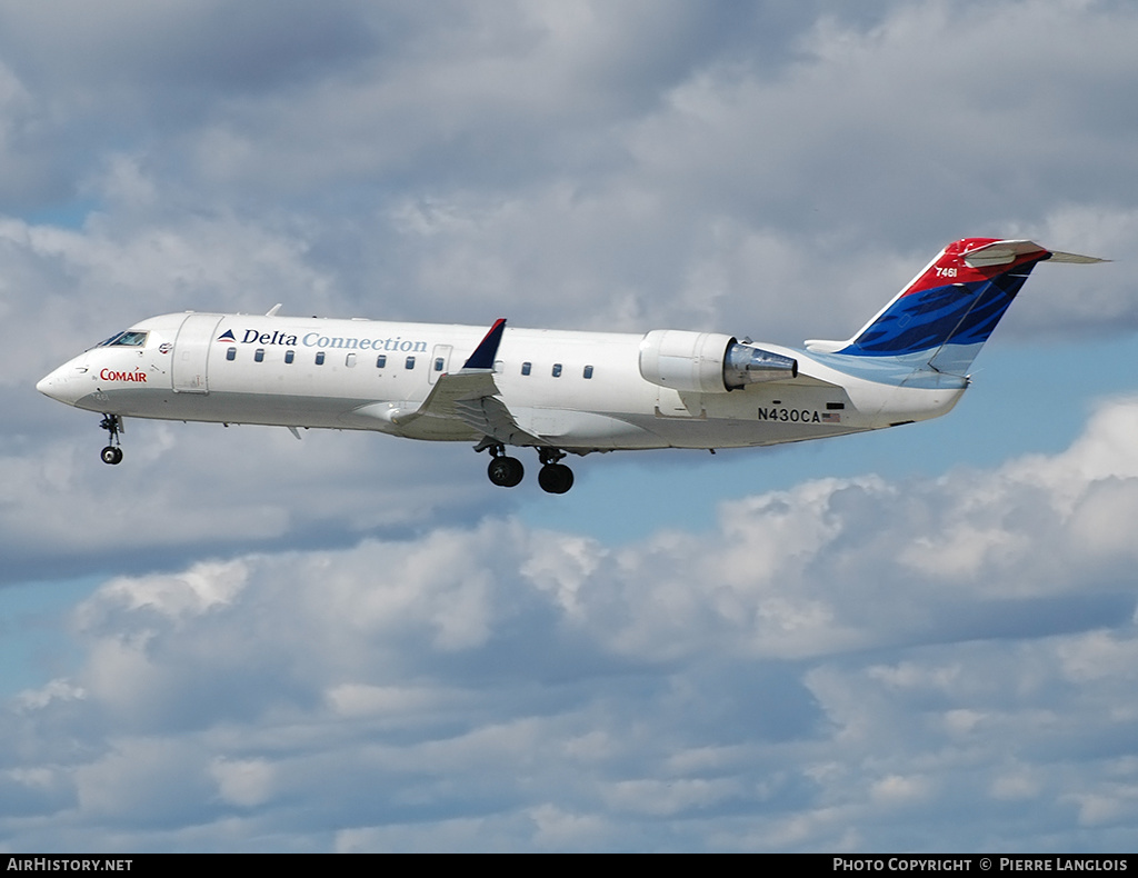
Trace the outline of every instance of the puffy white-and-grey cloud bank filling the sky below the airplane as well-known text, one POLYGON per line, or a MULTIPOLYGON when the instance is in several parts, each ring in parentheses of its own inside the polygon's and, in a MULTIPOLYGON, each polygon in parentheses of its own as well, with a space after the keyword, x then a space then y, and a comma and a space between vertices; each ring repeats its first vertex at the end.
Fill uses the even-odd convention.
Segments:
POLYGON ((115 579, 76 610, 75 674, 6 707, 6 835, 1118 844, 1138 801, 1133 549, 1087 527, 1132 520, 1136 422, 1116 400, 1058 454, 808 482, 725 502, 699 536, 605 547, 488 518, 115 579), (1008 811, 1024 796, 1037 826, 1008 811))

